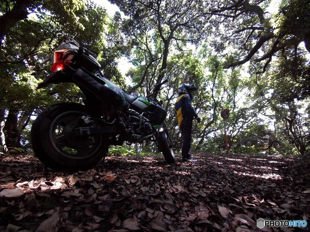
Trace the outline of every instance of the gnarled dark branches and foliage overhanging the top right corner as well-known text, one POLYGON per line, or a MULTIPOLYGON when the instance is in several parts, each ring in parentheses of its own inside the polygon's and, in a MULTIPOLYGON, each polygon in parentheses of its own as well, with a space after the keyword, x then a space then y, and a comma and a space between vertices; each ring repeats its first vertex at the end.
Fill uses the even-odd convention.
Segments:
POLYGON ((227 46, 234 48, 225 68, 251 60, 264 62, 257 72, 265 72, 272 57, 283 49, 301 50, 302 41, 310 52, 309 0, 283 1, 281 10, 271 16, 265 12, 268 5, 266 0, 210 1, 210 22, 221 38, 220 43, 213 41, 215 49, 222 52, 227 46))

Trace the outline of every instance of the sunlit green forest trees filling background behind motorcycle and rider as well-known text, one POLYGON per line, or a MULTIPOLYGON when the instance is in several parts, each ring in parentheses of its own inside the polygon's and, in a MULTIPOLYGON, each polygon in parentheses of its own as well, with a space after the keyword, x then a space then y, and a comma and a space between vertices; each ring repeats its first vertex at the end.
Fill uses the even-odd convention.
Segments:
MULTIPOLYGON (((157 98, 180 150, 175 100, 193 83, 196 152, 225 151, 221 107, 231 153, 307 155, 310 97, 310 0, 110 0, 119 12, 84 0, 0 3, 0 146, 31 151, 29 131, 47 106, 83 94, 72 84, 37 90, 51 74, 51 54, 64 36, 99 53, 104 75, 127 92, 157 98), (277 11, 268 12, 277 3, 277 11), (131 63, 126 77, 118 61, 131 63), (127 80, 127 81, 126 81, 127 80)), ((155 152, 139 144, 135 152, 155 152)))

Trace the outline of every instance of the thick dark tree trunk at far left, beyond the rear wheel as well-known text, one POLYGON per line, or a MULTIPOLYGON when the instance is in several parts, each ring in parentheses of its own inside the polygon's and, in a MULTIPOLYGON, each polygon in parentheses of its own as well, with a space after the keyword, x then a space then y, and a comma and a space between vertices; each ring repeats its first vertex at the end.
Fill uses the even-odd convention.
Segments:
POLYGON ((18 130, 18 120, 17 120, 18 111, 14 108, 10 108, 9 114, 7 115, 7 120, 3 127, 3 132, 5 135, 5 143, 7 148, 20 148, 20 131, 18 130))

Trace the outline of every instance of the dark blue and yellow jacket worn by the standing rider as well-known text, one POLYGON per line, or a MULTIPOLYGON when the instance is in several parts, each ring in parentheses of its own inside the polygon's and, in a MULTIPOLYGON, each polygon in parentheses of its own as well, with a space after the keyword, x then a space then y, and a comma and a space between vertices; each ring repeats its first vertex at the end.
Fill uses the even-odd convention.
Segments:
POLYGON ((188 94, 182 94, 176 100, 175 111, 179 126, 181 125, 183 119, 190 121, 193 120, 194 117, 196 118, 198 116, 188 94))

